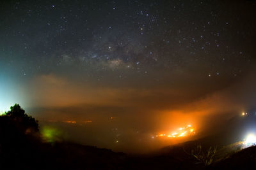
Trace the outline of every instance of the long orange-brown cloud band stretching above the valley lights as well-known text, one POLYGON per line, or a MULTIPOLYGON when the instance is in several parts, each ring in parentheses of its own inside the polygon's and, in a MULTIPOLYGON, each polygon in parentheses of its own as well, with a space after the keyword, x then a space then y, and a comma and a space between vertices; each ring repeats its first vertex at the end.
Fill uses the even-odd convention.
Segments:
POLYGON ((45 74, 31 82, 29 97, 31 105, 44 108, 51 113, 49 117, 83 118, 93 115, 102 119, 115 115, 122 124, 134 124, 143 129, 148 127, 148 131, 188 123, 204 127, 210 120, 211 124, 218 124, 254 106, 256 80, 253 71, 217 89, 205 90, 205 84, 196 83, 191 81, 186 88, 180 82, 155 84, 147 88, 115 86, 114 83, 102 86, 100 83, 77 82, 56 74, 45 74))

